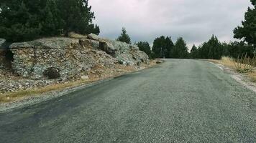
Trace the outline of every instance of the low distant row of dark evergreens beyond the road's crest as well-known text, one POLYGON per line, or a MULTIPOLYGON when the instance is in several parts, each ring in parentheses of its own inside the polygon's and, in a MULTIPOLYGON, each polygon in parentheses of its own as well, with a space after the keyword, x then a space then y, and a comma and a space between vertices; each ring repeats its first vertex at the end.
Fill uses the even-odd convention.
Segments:
POLYGON ((256 51, 253 44, 246 44, 244 41, 234 41, 229 44, 221 43, 214 35, 209 41, 198 47, 193 45, 190 52, 188 52, 186 41, 181 37, 173 44, 170 36, 160 36, 155 39, 152 49, 147 41, 140 41, 135 44, 152 59, 221 59, 222 56, 237 58, 245 54, 252 57, 256 51))

